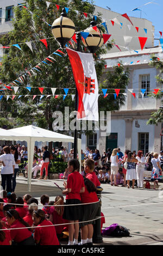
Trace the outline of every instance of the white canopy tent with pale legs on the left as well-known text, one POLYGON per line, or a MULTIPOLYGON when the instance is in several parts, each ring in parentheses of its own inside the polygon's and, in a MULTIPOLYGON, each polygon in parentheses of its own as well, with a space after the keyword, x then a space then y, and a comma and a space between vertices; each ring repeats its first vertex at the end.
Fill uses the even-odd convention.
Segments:
MULTIPOLYGON (((3 130, 3 129, 2 129, 3 130)), ((35 141, 42 142, 74 142, 74 138, 71 136, 63 135, 58 132, 53 132, 49 130, 42 129, 37 126, 28 125, 23 127, 18 127, 15 129, 10 129, 14 133, 20 135, 18 139, 15 139, 14 136, 12 139, 16 141, 27 141, 28 148, 28 191, 30 192, 31 186, 31 173, 33 167, 33 156, 34 156, 34 146, 35 141)), ((0 136, 1 138, 1 136, 0 136)), ((78 157, 79 162, 81 163, 81 139, 78 139, 78 157)))

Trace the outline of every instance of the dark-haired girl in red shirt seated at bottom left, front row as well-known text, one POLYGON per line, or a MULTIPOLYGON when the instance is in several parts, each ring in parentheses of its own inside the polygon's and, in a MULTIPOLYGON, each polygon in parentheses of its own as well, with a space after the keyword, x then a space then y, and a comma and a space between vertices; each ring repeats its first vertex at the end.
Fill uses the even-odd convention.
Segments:
POLYGON ((26 228, 29 227, 29 225, 20 217, 18 212, 14 209, 10 209, 7 211, 6 215, 7 222, 11 228, 10 236, 13 245, 35 245, 30 229, 26 228))

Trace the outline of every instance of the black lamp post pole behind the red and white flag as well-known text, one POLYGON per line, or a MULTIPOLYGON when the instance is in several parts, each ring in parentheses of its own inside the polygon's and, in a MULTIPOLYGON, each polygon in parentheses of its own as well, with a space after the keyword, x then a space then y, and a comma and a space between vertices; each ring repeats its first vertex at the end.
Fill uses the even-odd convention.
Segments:
MULTIPOLYGON (((80 32, 77 33, 76 35, 76 40, 77 40, 77 51, 80 50, 80 40, 81 40, 81 34, 80 32)), ((76 113, 78 112, 78 103, 79 103, 79 98, 78 98, 78 90, 76 87, 76 113)), ((76 115, 76 126, 77 126, 77 115, 76 115)), ((78 131, 77 128, 74 130, 74 146, 73 146, 73 158, 77 159, 77 149, 78 149, 78 131)), ((79 152, 78 152, 79 153, 79 152)))

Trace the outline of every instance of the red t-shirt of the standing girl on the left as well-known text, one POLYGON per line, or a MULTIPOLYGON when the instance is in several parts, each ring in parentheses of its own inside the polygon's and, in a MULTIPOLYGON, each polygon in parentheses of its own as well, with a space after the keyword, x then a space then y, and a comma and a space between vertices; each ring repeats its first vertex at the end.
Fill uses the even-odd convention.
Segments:
POLYGON ((71 188, 71 192, 66 194, 66 199, 78 199, 81 200, 80 190, 84 187, 84 178, 82 174, 74 171, 68 175, 67 187, 71 188))

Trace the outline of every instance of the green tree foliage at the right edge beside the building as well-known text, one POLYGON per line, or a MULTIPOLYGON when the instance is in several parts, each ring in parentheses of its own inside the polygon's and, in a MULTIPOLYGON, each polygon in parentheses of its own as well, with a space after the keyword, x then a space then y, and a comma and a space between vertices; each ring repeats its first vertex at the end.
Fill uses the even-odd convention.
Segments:
MULTIPOLYGON (((163 62, 158 59, 158 57, 153 56, 152 62, 150 64, 152 67, 156 68, 159 71, 159 74, 156 76, 156 81, 162 85, 163 84, 163 62)), ((161 105, 163 106, 163 93, 160 91, 158 94, 151 95, 155 99, 161 99, 161 105)), ((152 112, 151 117, 149 118, 147 124, 155 124, 158 125, 158 123, 163 123, 163 108, 160 106, 160 108, 156 112, 152 112)))

